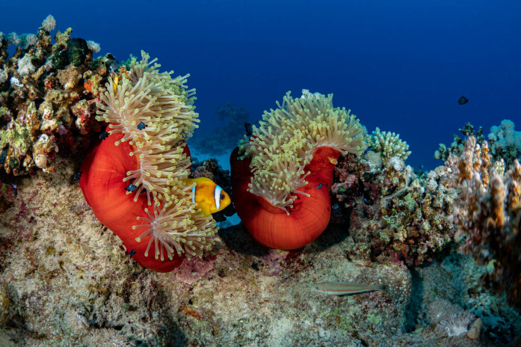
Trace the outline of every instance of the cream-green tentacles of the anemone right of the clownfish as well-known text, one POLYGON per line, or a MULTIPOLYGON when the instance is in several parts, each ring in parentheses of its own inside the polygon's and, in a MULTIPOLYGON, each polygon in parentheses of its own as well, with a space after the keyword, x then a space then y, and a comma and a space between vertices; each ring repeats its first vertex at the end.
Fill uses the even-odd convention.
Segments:
POLYGON ((296 194, 306 185, 304 171, 315 148, 332 147, 343 154, 361 155, 364 130, 355 115, 333 108, 332 94, 302 91, 300 98, 284 96, 277 109, 265 111, 253 136, 239 145, 241 159, 251 157, 253 172, 249 191, 285 210, 293 207, 296 194))

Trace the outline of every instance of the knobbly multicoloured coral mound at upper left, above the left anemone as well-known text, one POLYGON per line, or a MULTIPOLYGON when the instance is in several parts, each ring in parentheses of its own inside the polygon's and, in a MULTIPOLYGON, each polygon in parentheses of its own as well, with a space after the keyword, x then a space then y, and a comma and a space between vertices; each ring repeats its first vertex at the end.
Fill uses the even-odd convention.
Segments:
POLYGON ((76 154, 101 131, 93 115, 114 58, 93 60, 71 28, 58 31, 53 44, 55 25, 48 16, 36 34, 0 35, 0 165, 8 174, 54 172, 58 151, 76 154))

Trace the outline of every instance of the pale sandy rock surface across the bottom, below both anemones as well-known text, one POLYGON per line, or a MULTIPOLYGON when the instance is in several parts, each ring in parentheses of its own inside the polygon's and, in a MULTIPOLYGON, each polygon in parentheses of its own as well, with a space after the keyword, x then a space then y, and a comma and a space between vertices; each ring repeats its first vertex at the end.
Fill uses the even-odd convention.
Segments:
POLYGON ((473 292, 486 269, 471 258, 421 268, 356 259, 338 224, 289 252, 232 226, 203 260, 165 274, 141 268, 83 199, 77 163, 57 163, 55 173, 18 178, 16 189, 1 183, 2 345, 487 345, 519 335, 515 311, 473 292), (330 297, 308 287, 322 281, 386 290, 330 297), (429 317, 437 299, 461 306, 452 321, 439 319, 441 304, 429 317), (470 307, 486 328, 449 336, 470 307))

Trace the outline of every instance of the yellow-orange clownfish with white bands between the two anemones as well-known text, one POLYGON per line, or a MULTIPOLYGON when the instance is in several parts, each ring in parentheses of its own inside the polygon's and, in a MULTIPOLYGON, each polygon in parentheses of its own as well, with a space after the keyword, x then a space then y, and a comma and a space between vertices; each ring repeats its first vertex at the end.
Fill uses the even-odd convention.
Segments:
POLYGON ((207 177, 183 179, 185 185, 192 187, 192 202, 197 204, 204 216, 225 209, 231 202, 226 191, 207 177))

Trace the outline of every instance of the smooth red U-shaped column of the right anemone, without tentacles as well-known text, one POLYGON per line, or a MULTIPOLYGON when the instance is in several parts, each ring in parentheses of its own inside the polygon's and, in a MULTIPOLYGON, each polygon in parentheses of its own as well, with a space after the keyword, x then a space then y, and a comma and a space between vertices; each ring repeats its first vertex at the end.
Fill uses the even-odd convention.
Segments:
POLYGON ((238 148, 230 157, 232 196, 235 210, 245 228, 261 245, 283 250, 303 247, 315 240, 326 228, 331 216, 329 188, 334 160, 340 152, 327 146, 317 147, 304 171, 307 185, 299 190, 289 214, 272 206, 262 197, 247 191, 253 176, 250 159, 238 159, 238 148), (334 159, 334 160, 331 160, 334 159), (263 200, 264 199, 264 200, 263 200))

